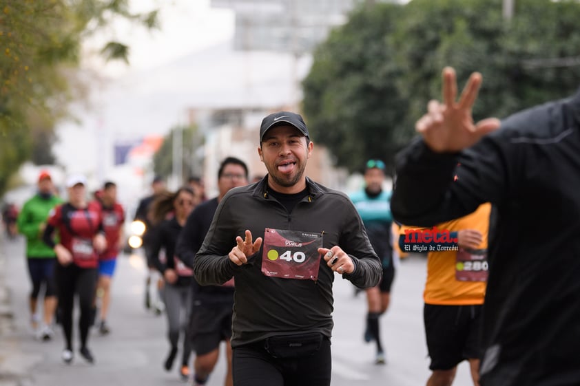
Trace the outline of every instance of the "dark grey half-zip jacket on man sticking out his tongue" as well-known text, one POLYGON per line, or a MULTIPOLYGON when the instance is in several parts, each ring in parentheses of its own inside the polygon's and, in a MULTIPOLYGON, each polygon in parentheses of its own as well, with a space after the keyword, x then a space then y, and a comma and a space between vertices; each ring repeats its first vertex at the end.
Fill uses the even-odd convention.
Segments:
MULTIPOLYGON (((318 280, 282 279, 262 275, 262 248, 249 263, 236 266, 227 256, 236 236, 264 237, 265 228, 322 233, 323 246, 340 246, 355 264, 344 275, 355 286, 376 286, 382 275, 357 211, 349 197, 307 179, 309 195, 291 213, 268 193, 267 177, 255 184, 231 189, 196 255, 194 272, 201 285, 236 281, 232 347, 276 334, 322 332, 331 336, 334 272, 320 260, 318 280)), ((263 244, 262 244, 263 247, 263 244)))

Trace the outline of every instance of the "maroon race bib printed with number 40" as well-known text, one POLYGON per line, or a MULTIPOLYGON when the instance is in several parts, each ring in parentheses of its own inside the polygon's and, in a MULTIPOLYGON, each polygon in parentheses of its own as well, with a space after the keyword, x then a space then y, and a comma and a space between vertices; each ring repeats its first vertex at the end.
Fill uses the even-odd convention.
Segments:
POLYGON ((318 279, 322 234, 266 228, 262 274, 284 279, 318 279))

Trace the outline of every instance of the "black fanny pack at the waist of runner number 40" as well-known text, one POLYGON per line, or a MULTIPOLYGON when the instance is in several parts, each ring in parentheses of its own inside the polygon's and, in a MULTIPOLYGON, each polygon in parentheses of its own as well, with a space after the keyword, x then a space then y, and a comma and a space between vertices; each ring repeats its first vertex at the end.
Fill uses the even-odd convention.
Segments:
POLYGON ((270 336, 266 339, 264 347, 274 358, 298 358, 311 356, 320 350, 322 339, 324 335, 320 332, 270 336))

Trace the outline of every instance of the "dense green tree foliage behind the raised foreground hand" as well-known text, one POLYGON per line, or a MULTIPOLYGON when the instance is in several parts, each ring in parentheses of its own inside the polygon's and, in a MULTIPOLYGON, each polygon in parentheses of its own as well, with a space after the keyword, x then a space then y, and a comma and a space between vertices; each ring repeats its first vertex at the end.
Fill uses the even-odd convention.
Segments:
POLYGON ((501 3, 413 0, 355 10, 315 51, 303 82, 313 139, 350 171, 368 158, 393 167, 428 100, 441 98, 447 65, 460 89, 471 72, 483 74, 476 119, 572 94, 580 84, 579 2, 518 0, 511 21, 501 3))

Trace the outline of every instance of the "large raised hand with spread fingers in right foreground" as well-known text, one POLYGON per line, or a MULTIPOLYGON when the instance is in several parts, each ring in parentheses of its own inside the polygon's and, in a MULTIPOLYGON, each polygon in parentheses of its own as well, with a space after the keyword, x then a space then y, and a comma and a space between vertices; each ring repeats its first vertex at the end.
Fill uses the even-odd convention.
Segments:
POLYGON ((474 72, 457 103, 457 80, 455 70, 443 69, 444 103, 431 100, 427 114, 417 120, 415 129, 421 133, 424 142, 437 153, 455 153, 473 146, 481 137, 499 128, 497 118, 487 118, 473 123, 471 108, 481 85, 481 74, 474 72))

